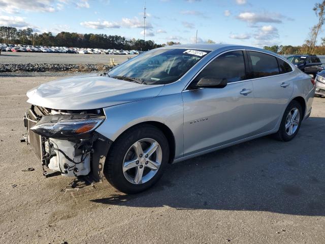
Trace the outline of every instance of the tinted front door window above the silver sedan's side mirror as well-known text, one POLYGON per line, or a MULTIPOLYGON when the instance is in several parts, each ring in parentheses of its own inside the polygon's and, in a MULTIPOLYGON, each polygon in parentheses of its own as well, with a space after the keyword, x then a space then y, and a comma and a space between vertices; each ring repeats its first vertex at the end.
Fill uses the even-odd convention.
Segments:
POLYGON ((195 80, 198 81, 201 78, 226 79, 228 83, 245 80, 243 51, 230 51, 216 57, 195 80))

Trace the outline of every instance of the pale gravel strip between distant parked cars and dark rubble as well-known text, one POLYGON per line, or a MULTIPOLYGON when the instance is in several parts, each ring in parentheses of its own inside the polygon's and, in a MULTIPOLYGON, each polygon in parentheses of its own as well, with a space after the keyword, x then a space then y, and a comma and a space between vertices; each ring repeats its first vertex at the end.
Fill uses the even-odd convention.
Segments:
POLYGON ((1 52, 0 64, 110 64, 114 58, 117 64, 135 55, 1 52))

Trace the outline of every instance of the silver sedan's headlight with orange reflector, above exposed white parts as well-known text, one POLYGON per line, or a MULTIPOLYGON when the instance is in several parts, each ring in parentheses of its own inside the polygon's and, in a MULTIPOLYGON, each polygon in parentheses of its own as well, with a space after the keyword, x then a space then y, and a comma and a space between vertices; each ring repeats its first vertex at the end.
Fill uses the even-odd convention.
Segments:
POLYGON ((93 131, 104 119, 93 114, 46 115, 30 130, 45 137, 73 137, 93 131))

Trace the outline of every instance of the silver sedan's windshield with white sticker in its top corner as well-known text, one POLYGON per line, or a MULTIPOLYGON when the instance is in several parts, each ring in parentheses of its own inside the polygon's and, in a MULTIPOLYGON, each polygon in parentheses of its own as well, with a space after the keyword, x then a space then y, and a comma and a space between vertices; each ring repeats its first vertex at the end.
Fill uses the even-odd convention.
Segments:
POLYGON ((208 54, 206 50, 156 49, 136 56, 114 68, 110 77, 138 79, 143 84, 169 84, 181 78, 208 54))

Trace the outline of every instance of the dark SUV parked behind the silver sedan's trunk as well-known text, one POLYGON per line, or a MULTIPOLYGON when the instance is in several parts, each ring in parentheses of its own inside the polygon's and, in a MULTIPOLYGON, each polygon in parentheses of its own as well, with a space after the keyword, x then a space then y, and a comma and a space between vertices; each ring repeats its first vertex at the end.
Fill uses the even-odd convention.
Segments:
POLYGON ((287 59, 302 72, 313 75, 314 77, 321 70, 321 62, 316 55, 294 55, 287 59))

